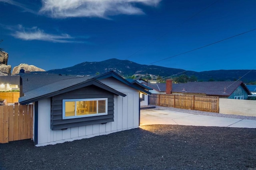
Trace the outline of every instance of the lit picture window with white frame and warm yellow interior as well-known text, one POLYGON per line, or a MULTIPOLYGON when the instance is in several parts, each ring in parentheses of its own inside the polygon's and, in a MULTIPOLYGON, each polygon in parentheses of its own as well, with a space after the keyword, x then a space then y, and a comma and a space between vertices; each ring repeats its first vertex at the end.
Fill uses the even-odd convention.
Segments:
POLYGON ((108 98, 62 100, 62 118, 100 116, 108 114, 108 98))

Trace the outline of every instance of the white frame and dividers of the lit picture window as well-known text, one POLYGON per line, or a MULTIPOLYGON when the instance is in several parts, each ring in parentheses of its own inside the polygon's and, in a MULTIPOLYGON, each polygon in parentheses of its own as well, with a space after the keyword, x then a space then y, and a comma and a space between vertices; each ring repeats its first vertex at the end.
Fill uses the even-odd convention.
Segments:
POLYGON ((92 117, 92 116, 100 116, 100 115, 107 115, 108 114, 108 98, 92 98, 92 99, 63 99, 62 100, 62 119, 76 119, 81 117, 92 117), (98 100, 105 100, 106 101, 106 113, 98 113, 98 100), (76 102, 80 101, 97 101, 97 113, 89 114, 89 115, 76 115, 76 102), (75 102, 75 116, 65 116, 65 102, 75 102))

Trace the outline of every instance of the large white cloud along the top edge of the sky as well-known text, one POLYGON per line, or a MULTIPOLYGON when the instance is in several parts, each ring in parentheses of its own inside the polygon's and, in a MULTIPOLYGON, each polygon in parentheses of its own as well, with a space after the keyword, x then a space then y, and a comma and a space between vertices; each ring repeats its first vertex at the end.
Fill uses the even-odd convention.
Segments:
POLYGON ((41 13, 53 18, 144 14, 135 5, 156 6, 161 0, 42 0, 41 13))

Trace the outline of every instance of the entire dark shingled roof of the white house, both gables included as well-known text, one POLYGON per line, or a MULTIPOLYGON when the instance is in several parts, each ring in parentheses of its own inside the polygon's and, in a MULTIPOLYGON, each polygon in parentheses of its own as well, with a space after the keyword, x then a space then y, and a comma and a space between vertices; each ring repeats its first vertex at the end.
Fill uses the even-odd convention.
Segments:
POLYGON ((28 104, 44 98, 49 98, 76 90, 78 88, 94 85, 102 89, 105 89, 113 94, 126 96, 125 94, 110 88, 109 86, 101 83, 99 80, 114 77, 117 80, 123 82, 124 84, 140 90, 145 94, 151 94, 150 92, 131 84, 126 81, 124 78, 116 74, 115 72, 108 72, 101 74, 99 76, 86 76, 86 77, 77 77, 77 76, 56 76, 56 75, 41 75, 41 74, 20 74, 22 77, 22 86, 25 96, 19 98, 20 104, 28 104))

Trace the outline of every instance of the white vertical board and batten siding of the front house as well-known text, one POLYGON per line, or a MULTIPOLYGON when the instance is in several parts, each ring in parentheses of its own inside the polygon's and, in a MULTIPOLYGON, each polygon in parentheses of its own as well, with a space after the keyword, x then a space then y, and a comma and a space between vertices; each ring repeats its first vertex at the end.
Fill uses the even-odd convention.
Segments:
POLYGON ((116 86, 115 90, 127 96, 114 95, 114 121, 106 124, 71 127, 67 130, 52 130, 51 99, 38 101, 38 144, 36 146, 54 145, 139 127, 139 91, 119 81, 114 82, 113 85, 116 86))

